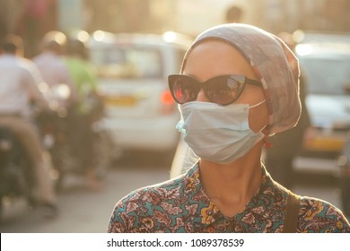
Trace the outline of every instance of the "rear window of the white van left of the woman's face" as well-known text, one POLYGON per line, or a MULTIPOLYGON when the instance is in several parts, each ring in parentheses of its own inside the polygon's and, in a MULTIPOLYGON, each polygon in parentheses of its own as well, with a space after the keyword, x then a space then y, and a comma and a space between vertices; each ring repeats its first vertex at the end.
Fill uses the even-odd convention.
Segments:
POLYGON ((150 48, 95 48, 92 63, 99 76, 106 78, 160 78, 162 56, 150 48))

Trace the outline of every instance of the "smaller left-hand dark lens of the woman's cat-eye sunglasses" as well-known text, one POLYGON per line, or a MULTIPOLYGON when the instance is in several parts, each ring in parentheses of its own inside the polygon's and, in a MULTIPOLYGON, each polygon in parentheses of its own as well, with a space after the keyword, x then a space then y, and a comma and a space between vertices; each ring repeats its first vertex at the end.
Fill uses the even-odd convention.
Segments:
POLYGON ((197 99, 197 85, 186 76, 178 76, 171 78, 171 93, 179 104, 184 104, 197 99))

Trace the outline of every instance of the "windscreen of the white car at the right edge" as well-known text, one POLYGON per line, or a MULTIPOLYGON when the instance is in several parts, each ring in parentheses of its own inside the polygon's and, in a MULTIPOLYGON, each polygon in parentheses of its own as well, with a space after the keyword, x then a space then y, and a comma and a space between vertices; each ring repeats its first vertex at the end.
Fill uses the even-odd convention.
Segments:
POLYGON ((350 84, 350 56, 303 56, 301 67, 309 93, 346 94, 350 84))

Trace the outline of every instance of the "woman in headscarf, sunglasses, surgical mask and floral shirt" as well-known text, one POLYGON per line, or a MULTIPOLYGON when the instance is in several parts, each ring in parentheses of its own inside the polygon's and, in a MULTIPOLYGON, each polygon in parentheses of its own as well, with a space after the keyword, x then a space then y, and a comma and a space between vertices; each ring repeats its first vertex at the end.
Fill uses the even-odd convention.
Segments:
POLYGON ((264 30, 227 24, 200 34, 169 77, 177 127, 199 160, 120 200, 108 231, 350 232, 335 206, 293 195, 261 163, 267 136, 300 117, 298 78, 293 53, 264 30))

